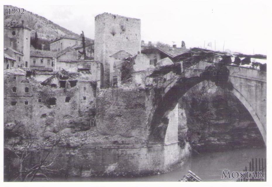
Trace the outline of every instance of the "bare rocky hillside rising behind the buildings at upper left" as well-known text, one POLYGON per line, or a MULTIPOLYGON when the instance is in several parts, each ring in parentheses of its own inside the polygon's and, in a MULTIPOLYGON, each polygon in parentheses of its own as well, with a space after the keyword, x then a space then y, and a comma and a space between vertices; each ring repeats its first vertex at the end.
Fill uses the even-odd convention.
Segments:
MULTIPOLYGON (((10 21, 21 21, 24 20, 25 25, 27 25, 31 31, 31 38, 35 37, 35 31, 37 32, 38 38, 43 41, 42 43, 48 44, 50 41, 62 36, 76 37, 79 38, 80 35, 76 34, 66 28, 63 28, 52 21, 34 14, 30 11, 25 10, 25 14, 10 14, 8 15, 8 8, 23 8, 15 7, 10 5, 4 6, 4 25, 10 21)), ((87 38, 87 42, 93 43, 93 40, 87 38)))

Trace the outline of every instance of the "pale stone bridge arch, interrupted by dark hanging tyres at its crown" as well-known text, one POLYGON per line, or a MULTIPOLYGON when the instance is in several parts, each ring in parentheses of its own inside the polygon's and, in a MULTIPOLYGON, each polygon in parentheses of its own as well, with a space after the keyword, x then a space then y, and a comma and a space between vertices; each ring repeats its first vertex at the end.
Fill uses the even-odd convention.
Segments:
MULTIPOLYGON (((175 78, 164 89, 163 98, 156 104, 150 120, 149 142, 163 142, 165 145, 178 141, 178 121, 170 120, 177 115, 177 104, 190 88, 203 80, 199 77, 206 66, 214 63, 200 61, 187 68, 184 76, 175 78)), ((249 111, 266 145, 266 72, 237 66, 230 70, 230 90, 249 111)))

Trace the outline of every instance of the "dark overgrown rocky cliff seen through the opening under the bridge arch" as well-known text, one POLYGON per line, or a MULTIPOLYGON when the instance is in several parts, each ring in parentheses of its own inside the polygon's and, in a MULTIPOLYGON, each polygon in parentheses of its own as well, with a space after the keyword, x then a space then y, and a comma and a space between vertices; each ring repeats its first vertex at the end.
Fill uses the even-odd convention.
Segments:
POLYGON ((262 147, 264 141, 252 116, 228 90, 204 81, 179 103, 179 140, 196 152, 262 147))

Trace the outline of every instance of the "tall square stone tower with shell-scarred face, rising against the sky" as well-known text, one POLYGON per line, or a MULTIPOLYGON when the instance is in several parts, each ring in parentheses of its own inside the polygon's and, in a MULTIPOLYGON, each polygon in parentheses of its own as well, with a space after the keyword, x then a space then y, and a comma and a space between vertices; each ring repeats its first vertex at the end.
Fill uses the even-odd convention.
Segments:
POLYGON ((132 56, 141 52, 141 20, 109 13, 97 15, 95 17, 94 59, 103 64, 102 87, 109 85, 109 56, 120 50, 132 56))

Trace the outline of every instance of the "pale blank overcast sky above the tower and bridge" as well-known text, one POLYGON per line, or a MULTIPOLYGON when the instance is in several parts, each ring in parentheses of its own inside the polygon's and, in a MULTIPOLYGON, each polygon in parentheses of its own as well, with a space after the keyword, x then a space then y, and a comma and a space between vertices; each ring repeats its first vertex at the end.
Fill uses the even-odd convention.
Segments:
POLYGON ((271 35, 268 1, 9 1, 94 39, 94 17, 108 12, 141 19, 141 39, 186 47, 266 54, 271 35), (37 4, 39 2, 39 4, 37 4), (54 4, 54 5, 53 5, 54 4), (269 35, 268 35, 269 34, 269 35))

